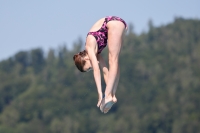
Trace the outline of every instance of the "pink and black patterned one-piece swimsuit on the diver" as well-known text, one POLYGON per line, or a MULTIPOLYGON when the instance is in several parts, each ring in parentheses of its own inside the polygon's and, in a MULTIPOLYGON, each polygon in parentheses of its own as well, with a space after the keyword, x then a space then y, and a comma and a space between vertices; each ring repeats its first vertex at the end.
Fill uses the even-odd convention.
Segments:
POLYGON ((101 51, 107 46, 107 40, 108 40, 108 28, 106 26, 106 24, 109 21, 112 20, 117 20, 117 21, 121 21, 122 23, 124 23, 125 27, 127 27, 126 22, 116 16, 108 16, 105 18, 103 25, 101 26, 101 28, 98 31, 95 32, 89 32, 87 34, 88 35, 93 35, 97 41, 97 45, 98 45, 98 54, 101 53, 101 51))

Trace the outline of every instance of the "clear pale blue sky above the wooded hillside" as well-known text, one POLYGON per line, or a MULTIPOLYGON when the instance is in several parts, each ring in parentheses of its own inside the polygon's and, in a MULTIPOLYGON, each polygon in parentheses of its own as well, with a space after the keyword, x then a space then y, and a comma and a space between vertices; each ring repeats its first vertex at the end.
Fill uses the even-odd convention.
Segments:
POLYGON ((148 31, 175 17, 200 19, 199 0, 0 0, 0 61, 19 51, 42 48, 47 52, 85 37, 105 16, 119 16, 134 32, 148 31))

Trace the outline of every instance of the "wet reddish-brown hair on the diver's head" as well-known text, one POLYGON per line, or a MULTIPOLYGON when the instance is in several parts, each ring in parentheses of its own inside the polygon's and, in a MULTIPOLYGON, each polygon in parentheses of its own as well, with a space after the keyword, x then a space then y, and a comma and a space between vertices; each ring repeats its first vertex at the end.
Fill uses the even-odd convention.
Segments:
POLYGON ((76 67, 81 71, 85 72, 83 70, 83 67, 85 65, 85 60, 83 59, 87 55, 86 50, 83 50, 82 52, 79 52, 78 54, 75 54, 73 59, 76 67))

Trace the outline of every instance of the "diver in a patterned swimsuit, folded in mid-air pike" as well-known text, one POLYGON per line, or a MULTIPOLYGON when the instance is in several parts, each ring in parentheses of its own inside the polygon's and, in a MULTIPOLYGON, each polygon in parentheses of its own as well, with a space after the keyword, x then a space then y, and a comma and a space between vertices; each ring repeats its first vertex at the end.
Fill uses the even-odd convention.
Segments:
POLYGON ((120 77, 119 54, 122 36, 126 29, 126 22, 119 17, 101 18, 87 34, 85 50, 73 57, 76 67, 81 72, 93 70, 99 97, 97 107, 100 107, 103 113, 107 113, 112 105, 117 102, 115 94, 120 77), (101 56, 102 50, 107 45, 109 67, 101 56), (100 68, 106 83, 104 94, 102 93, 100 68))

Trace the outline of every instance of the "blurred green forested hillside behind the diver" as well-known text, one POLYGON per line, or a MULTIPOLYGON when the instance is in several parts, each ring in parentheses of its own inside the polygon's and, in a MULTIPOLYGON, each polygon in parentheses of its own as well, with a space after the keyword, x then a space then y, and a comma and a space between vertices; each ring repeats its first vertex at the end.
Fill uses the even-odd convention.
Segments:
POLYGON ((118 103, 108 114, 96 107, 92 72, 74 67, 82 39, 71 50, 1 61, 0 133, 200 133, 200 20, 148 26, 137 35, 130 24, 124 36, 118 103))

